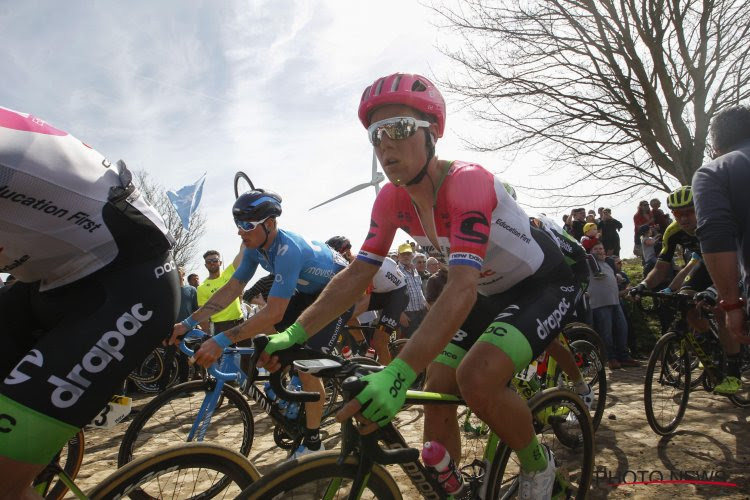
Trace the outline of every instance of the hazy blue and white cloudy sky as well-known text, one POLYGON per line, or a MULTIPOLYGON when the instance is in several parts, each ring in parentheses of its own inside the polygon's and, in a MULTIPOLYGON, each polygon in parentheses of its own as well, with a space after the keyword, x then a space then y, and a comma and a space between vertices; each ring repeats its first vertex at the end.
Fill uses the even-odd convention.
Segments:
MULTIPOLYGON (((370 179, 372 149, 356 116, 364 87, 396 71, 445 78, 459 70, 436 49, 449 41, 437 21, 403 0, 6 2, 0 104, 147 170, 168 189, 208 172, 200 248, 226 260, 239 245, 230 215, 237 170, 282 195, 281 227, 319 240, 344 234, 356 247, 374 189, 308 209, 370 179)), ((487 131, 446 98, 438 155, 528 183, 538 160, 467 150, 460 136, 487 131)), ((635 203, 612 207, 626 226, 624 255, 635 203)), ((206 275, 200 260, 193 267, 206 275)))

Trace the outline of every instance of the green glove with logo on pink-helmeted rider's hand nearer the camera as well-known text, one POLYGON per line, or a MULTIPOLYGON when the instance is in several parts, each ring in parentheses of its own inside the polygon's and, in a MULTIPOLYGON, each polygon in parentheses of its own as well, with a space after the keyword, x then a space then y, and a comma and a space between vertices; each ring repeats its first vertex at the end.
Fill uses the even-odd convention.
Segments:
POLYGON ((365 375, 367 382, 356 399, 364 407, 362 416, 383 427, 393 420, 404 406, 406 391, 417 379, 417 374, 404 360, 396 358, 383 371, 365 375))

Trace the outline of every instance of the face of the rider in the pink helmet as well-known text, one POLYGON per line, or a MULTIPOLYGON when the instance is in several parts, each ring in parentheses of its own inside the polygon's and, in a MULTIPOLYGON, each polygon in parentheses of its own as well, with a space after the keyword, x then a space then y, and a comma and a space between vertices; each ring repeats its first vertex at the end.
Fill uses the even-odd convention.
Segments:
MULTIPOLYGON (((409 106, 401 104, 387 104, 376 109, 371 117, 370 123, 393 118, 395 116, 410 116, 418 120, 422 119, 420 113, 409 106)), ((433 124, 432 127, 435 127, 433 124)), ((406 139, 394 140, 383 134, 379 146, 375 147, 375 154, 385 175, 393 184, 400 186, 413 179, 427 161, 427 147, 425 145, 426 128, 417 130, 417 133, 406 139)), ((433 134, 435 132, 433 131, 433 134)))

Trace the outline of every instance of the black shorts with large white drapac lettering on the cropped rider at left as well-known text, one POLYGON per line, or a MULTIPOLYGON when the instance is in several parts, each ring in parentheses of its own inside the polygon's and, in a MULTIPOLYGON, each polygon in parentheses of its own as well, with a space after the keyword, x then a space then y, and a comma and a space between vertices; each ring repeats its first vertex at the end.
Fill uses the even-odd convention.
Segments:
POLYGON ((128 253, 52 290, 0 288, 0 455, 47 463, 170 336, 180 296, 171 253, 128 253))

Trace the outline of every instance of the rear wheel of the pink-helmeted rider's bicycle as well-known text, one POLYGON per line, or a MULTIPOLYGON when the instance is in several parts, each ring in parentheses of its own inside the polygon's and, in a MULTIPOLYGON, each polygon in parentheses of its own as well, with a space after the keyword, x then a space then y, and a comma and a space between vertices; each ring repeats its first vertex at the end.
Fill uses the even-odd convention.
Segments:
MULTIPOLYGON (((591 479, 594 472, 594 429, 591 426, 591 417, 584 402, 573 392, 567 389, 545 389, 534 395, 529 400, 529 409, 533 415, 534 430, 539 443, 546 444, 555 455, 558 466, 558 480, 556 488, 560 487, 560 475, 567 474, 566 482, 568 498, 584 499, 589 493, 591 479), (560 410, 565 410, 565 416, 558 415, 560 410), (574 415, 575 419, 568 419, 568 415, 574 415), (552 419, 557 420, 552 420, 552 419), (560 423, 561 419, 564 423, 560 423), (552 422, 557 422, 558 429, 552 422), (575 432, 578 435, 578 445, 571 448, 566 444, 557 446, 559 441, 559 426, 567 425, 568 433, 575 432), (577 463, 579 468, 570 466, 577 463)), ((487 496, 486 498, 510 498, 515 495, 518 487, 518 473, 520 466, 510 447, 500 442, 495 450, 493 460, 490 463, 487 474, 487 496)), ((557 491, 557 493, 563 493, 557 491)), ((553 495, 555 492, 553 492, 553 495)), ((564 497, 564 496, 563 496, 564 497)))

